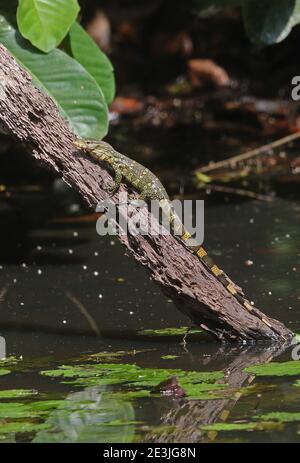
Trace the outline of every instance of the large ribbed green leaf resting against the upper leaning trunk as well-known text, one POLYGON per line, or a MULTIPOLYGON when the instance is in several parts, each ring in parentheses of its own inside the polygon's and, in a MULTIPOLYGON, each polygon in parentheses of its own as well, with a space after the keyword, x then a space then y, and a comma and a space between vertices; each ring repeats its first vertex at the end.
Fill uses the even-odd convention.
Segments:
POLYGON ((108 129, 107 105, 95 79, 62 50, 47 55, 26 42, 0 16, 0 43, 33 76, 34 83, 57 104, 70 128, 79 136, 103 138, 108 129))

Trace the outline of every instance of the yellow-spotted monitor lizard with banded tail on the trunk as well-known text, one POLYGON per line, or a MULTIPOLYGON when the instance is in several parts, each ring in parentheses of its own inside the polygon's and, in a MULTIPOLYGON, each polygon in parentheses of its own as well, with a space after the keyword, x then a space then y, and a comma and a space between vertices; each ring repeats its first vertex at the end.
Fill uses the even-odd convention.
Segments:
POLYGON ((225 272, 223 272, 223 270, 221 270, 208 256, 205 249, 202 246, 195 244, 190 233, 184 229, 179 218, 175 216, 172 211, 169 196, 165 188, 149 169, 133 159, 128 158, 124 154, 118 153, 112 146, 104 141, 78 138, 74 144, 77 148, 82 149, 96 161, 106 163, 109 168, 114 171, 115 183, 109 190, 110 193, 116 192, 124 179, 127 184, 133 186, 139 192, 140 200, 159 201, 163 212, 168 214, 170 217, 170 223, 173 226, 173 231, 176 231, 176 234, 178 234, 178 230, 180 230, 180 235, 178 237, 184 242, 186 247, 200 259, 205 267, 210 270, 210 272, 222 283, 227 291, 233 295, 248 312, 252 312, 253 315, 257 316, 269 328, 273 329, 277 334, 280 334, 274 327, 271 326, 267 317, 261 315, 250 304, 250 302, 244 297, 242 291, 233 284, 225 272))

